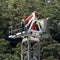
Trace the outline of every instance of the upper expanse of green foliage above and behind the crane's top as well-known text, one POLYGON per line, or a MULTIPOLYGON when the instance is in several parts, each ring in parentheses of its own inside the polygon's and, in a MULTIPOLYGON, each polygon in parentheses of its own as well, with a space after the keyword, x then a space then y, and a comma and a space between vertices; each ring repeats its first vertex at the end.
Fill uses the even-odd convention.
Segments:
POLYGON ((60 26, 58 25, 60 20, 59 0, 54 0, 49 3, 44 0, 1 0, 0 38, 5 37, 5 34, 7 35, 7 27, 9 27, 11 24, 14 25, 21 22, 23 16, 28 16, 33 11, 37 11, 39 13, 39 18, 49 17, 50 33, 55 40, 59 40, 60 28, 56 28, 56 26, 60 26), (57 36, 58 38, 56 38, 57 36))

